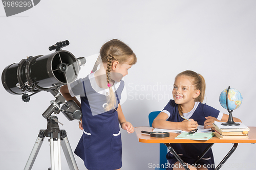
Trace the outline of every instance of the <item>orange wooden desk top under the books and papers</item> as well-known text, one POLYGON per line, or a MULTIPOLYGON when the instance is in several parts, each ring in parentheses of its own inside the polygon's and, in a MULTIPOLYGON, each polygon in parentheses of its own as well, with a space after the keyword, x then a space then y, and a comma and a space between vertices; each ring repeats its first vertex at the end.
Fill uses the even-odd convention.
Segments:
POLYGON ((248 139, 219 139, 218 137, 212 137, 209 140, 190 140, 190 139, 174 139, 178 136, 178 133, 170 132, 169 137, 158 138, 151 137, 150 134, 141 133, 141 131, 152 132, 152 127, 136 127, 135 132, 139 142, 142 143, 256 143, 256 127, 248 127, 249 138, 248 139))

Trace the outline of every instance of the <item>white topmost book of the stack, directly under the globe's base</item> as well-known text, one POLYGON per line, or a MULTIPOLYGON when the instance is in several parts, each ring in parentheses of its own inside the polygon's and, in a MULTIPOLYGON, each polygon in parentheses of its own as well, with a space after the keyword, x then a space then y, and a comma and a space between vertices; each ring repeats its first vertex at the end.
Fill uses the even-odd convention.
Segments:
POLYGON ((239 126, 225 126, 225 125, 221 125, 223 122, 215 122, 214 124, 212 124, 212 126, 214 126, 215 131, 218 132, 244 132, 244 131, 250 131, 250 129, 245 126, 244 124, 242 124, 241 122, 239 122, 239 126))

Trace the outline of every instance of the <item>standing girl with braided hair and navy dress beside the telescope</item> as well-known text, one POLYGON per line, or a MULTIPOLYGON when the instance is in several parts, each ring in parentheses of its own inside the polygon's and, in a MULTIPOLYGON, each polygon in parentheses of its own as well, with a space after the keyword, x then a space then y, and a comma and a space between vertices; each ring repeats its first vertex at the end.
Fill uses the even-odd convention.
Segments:
POLYGON ((119 124, 128 133, 133 133, 134 127, 126 122, 119 104, 124 88, 121 78, 136 61, 129 46, 113 39, 101 47, 90 75, 60 89, 67 101, 74 100, 81 107, 79 128, 83 135, 75 154, 90 170, 114 170, 122 166, 119 124), (81 104, 75 95, 80 95, 81 104))

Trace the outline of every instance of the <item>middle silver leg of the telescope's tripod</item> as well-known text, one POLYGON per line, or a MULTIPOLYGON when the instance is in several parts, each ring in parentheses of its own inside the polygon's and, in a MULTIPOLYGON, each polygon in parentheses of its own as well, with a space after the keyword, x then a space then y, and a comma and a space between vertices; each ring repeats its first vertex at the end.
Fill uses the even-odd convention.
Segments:
POLYGON ((50 149, 51 149, 51 170, 60 170, 61 169, 61 160, 60 160, 60 135, 58 138, 53 138, 51 133, 50 137, 50 149))

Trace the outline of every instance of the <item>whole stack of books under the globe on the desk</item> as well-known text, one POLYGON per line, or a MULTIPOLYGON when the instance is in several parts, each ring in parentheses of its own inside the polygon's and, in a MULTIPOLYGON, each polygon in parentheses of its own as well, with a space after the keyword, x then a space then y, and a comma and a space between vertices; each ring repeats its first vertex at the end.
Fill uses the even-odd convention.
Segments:
POLYGON ((250 129, 239 122, 239 126, 224 126, 223 122, 215 122, 215 135, 220 139, 245 139, 248 138, 250 129))

